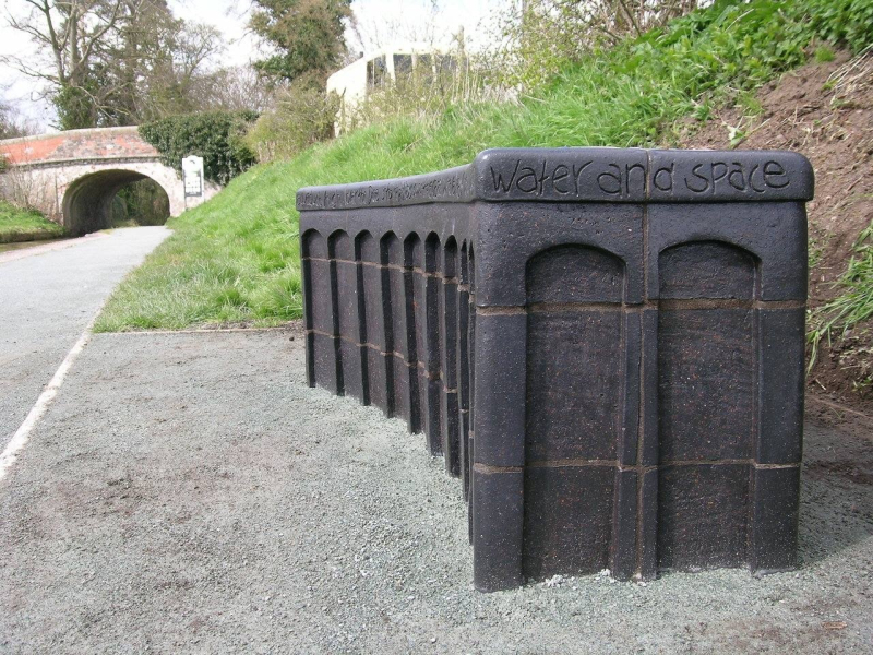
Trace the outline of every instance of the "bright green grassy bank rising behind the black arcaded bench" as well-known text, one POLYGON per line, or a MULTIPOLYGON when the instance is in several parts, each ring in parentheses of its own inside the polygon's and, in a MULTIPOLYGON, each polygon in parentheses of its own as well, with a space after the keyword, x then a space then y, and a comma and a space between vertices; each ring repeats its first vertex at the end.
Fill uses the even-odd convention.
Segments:
POLYGON ((487 147, 674 143, 679 121, 705 120, 728 100, 749 104, 749 92, 805 63, 822 41, 873 43, 873 0, 720 0, 569 64, 536 97, 398 118, 255 167, 168 223, 174 236, 122 284, 96 329, 298 318, 300 187, 439 170, 487 147))

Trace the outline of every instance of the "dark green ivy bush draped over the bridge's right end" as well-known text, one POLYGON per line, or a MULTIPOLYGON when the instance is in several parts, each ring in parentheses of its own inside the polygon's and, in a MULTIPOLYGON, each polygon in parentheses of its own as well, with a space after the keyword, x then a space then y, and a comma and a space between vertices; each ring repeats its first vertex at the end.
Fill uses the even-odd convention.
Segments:
POLYGON ((157 148, 164 164, 178 171, 184 157, 203 157, 206 179, 224 186, 255 164, 244 134, 256 118, 251 111, 183 114, 142 124, 140 135, 157 148))

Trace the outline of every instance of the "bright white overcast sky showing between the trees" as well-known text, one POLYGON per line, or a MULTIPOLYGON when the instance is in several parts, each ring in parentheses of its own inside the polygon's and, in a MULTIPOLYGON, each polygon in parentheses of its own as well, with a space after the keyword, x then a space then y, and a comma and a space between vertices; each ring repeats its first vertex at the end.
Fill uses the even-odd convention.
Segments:
MULTIPOLYGON (((509 0, 438 0, 436 12, 431 0, 354 0, 359 32, 364 44, 347 32, 347 41, 356 49, 369 49, 396 40, 434 40, 446 44, 461 27, 468 43, 475 47, 485 40, 487 26, 493 25, 493 15, 509 0), (403 8, 398 11, 398 8, 403 8)), ((7 16, 26 15, 24 0, 2 0, 0 19, 0 55, 19 55, 36 59, 36 50, 28 37, 12 29, 7 16)), ((247 33, 248 0, 169 0, 172 11, 187 21, 208 23, 225 36, 227 48, 215 66, 242 64, 258 59, 258 41, 247 33)), ((38 98, 38 81, 23 76, 0 63, 0 93, 22 116, 41 129, 50 129, 55 115, 45 100, 38 98)))

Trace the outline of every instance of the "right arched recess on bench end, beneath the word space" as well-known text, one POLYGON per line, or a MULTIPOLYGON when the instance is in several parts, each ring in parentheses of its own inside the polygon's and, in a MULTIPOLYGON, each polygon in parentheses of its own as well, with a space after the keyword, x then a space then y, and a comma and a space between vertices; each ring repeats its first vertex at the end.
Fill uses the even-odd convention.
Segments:
POLYGON ((755 298, 757 265, 720 241, 658 259, 661 301, 713 302, 658 310, 658 568, 737 567, 749 561, 754 479, 749 464, 721 461, 754 457, 756 310, 733 303, 755 298))

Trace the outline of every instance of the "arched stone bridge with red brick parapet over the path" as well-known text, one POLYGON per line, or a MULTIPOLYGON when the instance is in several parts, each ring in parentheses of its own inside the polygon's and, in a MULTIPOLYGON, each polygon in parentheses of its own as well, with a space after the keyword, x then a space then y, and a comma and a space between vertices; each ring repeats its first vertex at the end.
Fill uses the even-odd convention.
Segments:
POLYGON ((206 182, 204 195, 186 198, 180 176, 160 162, 136 127, 70 130, 0 141, 8 169, 0 194, 38 207, 71 234, 111 225, 112 199, 131 182, 152 179, 167 193, 170 216, 218 191, 206 182))

